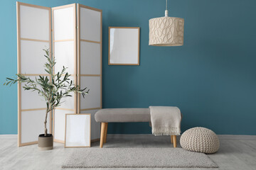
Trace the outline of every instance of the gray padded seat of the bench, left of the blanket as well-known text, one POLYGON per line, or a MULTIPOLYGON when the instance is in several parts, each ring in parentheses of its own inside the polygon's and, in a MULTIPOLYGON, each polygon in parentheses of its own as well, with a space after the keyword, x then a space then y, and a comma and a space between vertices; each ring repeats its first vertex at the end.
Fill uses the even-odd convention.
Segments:
POLYGON ((149 108, 104 108, 95 113, 96 122, 150 122, 149 108))

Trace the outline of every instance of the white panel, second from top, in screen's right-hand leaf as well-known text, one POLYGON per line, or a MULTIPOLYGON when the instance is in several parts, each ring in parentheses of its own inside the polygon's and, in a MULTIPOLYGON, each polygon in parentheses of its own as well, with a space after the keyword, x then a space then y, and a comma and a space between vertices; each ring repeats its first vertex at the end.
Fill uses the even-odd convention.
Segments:
POLYGON ((101 74, 101 45, 93 42, 80 42, 80 74, 101 74))

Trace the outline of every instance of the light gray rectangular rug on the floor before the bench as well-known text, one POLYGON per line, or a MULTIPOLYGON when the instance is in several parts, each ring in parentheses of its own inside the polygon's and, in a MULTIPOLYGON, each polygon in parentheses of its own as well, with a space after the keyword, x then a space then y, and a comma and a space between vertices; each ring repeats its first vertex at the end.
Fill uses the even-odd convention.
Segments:
POLYGON ((218 168, 206 154, 181 148, 78 148, 68 168, 218 168))

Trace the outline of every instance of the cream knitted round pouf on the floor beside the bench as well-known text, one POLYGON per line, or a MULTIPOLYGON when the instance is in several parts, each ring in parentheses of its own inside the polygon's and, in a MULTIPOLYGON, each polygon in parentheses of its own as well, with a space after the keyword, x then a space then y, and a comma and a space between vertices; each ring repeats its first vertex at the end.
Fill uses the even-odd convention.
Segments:
POLYGON ((181 147, 193 152, 213 154, 218 151, 220 141, 218 136, 207 128, 191 128, 181 135, 181 147))

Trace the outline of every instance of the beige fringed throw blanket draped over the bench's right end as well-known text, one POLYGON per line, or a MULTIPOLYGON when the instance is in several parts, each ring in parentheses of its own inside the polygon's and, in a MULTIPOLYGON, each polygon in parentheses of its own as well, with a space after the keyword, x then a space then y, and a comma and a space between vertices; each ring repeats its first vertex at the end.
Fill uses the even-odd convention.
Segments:
POLYGON ((152 134, 181 135, 181 111, 171 106, 149 106, 152 134))

